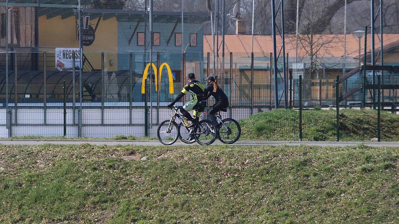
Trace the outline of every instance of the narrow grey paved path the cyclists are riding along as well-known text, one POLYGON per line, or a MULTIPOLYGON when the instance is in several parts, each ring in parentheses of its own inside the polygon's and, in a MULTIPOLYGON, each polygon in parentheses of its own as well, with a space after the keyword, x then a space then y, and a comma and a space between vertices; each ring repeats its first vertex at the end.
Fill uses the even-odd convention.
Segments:
MULTIPOLYGON (((159 141, 129 141, 129 140, 0 140, 3 145, 42 145, 42 144, 63 144, 63 145, 79 145, 79 144, 93 144, 93 145, 141 145, 141 146, 162 146, 159 141)), ((213 143, 214 145, 222 145, 219 141, 213 143)), ((238 141, 234 145, 250 146, 250 145, 308 145, 308 146, 355 146, 358 144, 365 144, 373 147, 399 147, 399 142, 268 142, 268 141, 238 141)), ((183 142, 177 141, 174 145, 186 145, 183 142)), ((193 144, 197 145, 198 144, 193 144)))

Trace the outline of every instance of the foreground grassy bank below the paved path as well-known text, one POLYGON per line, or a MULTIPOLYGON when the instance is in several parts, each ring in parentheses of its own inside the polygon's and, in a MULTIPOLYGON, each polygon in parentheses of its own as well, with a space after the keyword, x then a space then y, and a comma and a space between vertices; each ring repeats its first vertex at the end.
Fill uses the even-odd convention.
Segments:
POLYGON ((371 224, 399 217, 399 148, 85 144, 0 146, 0 155, 0 223, 371 224))

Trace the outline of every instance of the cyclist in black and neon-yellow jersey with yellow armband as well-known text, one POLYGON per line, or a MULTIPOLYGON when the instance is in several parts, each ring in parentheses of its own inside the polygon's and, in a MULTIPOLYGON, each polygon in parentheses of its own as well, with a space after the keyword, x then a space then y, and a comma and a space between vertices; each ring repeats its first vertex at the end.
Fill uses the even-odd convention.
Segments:
POLYGON ((189 93, 191 95, 191 100, 187 102, 180 112, 187 118, 189 121, 198 121, 200 117, 200 113, 203 112, 206 106, 206 96, 205 96, 205 86, 196 80, 196 76, 194 73, 189 73, 188 75, 189 83, 184 86, 183 90, 176 99, 168 105, 168 108, 172 108, 173 105, 178 102, 185 94, 189 93), (189 111, 195 110, 193 112, 196 119, 190 115, 189 111))

